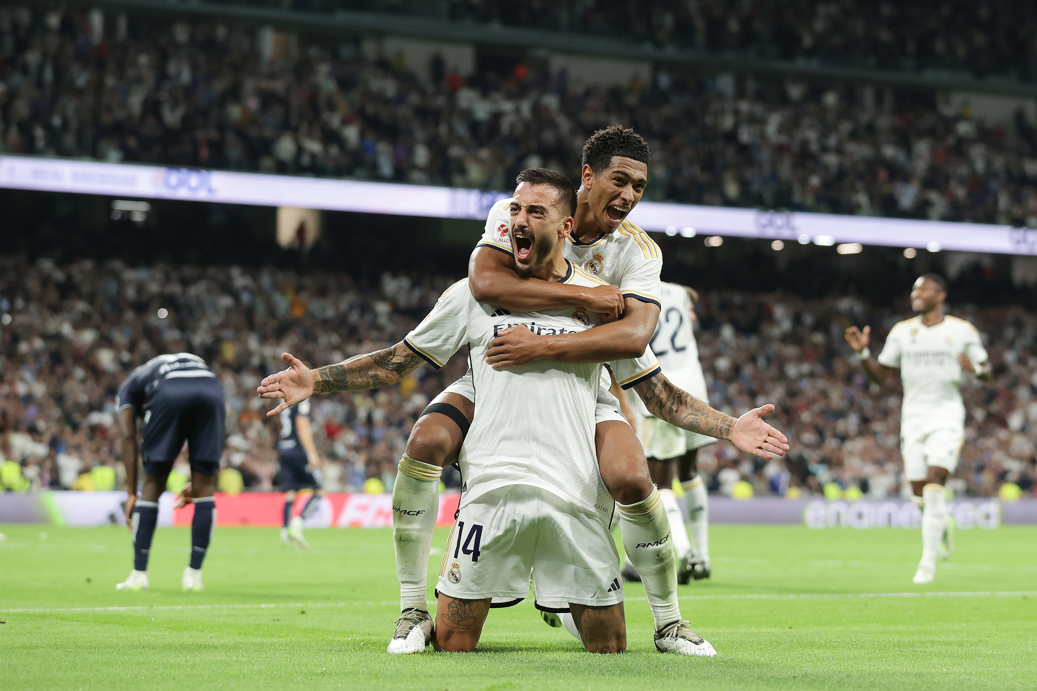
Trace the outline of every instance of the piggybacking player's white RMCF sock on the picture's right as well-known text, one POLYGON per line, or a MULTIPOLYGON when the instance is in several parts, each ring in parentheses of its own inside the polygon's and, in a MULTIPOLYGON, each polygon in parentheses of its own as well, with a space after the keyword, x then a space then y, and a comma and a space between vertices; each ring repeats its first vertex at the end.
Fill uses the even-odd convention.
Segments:
POLYGON ((657 489, 652 489, 647 499, 616 506, 622 519, 619 526, 626 558, 641 575, 641 584, 648 596, 648 606, 658 631, 680 618, 670 521, 657 489))

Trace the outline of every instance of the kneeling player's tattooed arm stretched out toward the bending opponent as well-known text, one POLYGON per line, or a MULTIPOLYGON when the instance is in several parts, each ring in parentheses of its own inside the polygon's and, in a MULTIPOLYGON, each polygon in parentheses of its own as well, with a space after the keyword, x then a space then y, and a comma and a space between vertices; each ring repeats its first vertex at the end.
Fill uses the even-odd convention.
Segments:
POLYGON ((425 364, 403 342, 391 348, 357 355, 336 365, 311 370, 291 353, 282 353, 288 369, 272 374, 256 390, 259 398, 284 399, 267 413, 269 418, 285 408, 305 401, 313 394, 380 388, 402 381, 407 375, 425 364))

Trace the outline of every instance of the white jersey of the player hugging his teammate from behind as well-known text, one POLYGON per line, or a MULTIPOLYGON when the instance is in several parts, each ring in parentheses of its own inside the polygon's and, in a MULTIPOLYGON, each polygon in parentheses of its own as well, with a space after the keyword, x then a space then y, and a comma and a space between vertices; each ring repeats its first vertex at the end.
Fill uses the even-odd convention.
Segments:
MULTIPOLYGON (((479 247, 511 253, 511 199, 494 204, 486 218, 486 226, 479 247)), ((619 228, 587 244, 569 237, 565 242, 565 258, 585 272, 607 284, 618 286, 624 297, 658 305, 660 271, 663 270, 663 252, 648 233, 629 221, 619 228)))

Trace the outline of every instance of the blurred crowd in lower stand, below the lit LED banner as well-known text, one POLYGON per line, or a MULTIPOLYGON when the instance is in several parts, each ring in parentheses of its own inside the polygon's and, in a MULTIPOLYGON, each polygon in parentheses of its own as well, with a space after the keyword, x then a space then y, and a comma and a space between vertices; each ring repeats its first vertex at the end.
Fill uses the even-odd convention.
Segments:
MULTIPOLYGON (((363 285, 341 273, 0 256, 0 455, 35 487, 114 482, 119 383, 156 354, 190 350, 206 358, 226 392, 224 466, 236 468, 248 489, 272 489, 279 423, 265 418, 272 406, 254 391, 283 367, 280 353, 316 365, 398 342, 450 282, 387 273, 363 285)), ((952 311, 978 325, 994 364, 992 381, 964 386, 970 413, 957 489, 990 495, 1011 481, 1033 491, 1037 315, 952 311)), ((707 447, 700 469, 712 491, 730 493, 746 480, 757 494, 818 493, 831 483, 876 496, 899 492, 898 390, 868 386, 842 330, 871 323, 877 348, 900 316, 853 297, 709 291, 698 314, 712 405, 739 414, 774 402, 775 423, 792 443, 784 462, 741 455, 727 442, 707 447)), ((313 428, 327 488, 391 487, 416 416, 465 367, 455 356, 397 386, 320 397, 313 428)))

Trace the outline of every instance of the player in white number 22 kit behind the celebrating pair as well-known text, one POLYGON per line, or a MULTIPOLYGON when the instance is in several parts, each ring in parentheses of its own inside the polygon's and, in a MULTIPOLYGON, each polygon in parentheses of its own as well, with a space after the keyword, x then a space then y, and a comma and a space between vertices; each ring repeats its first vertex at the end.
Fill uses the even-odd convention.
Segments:
MULTIPOLYGON (((699 294, 686 286, 662 283, 662 307, 650 345, 663 368, 663 374, 670 381, 699 400, 708 401, 706 380, 702 374, 699 348, 692 327, 698 299, 699 294)), ((638 396, 623 396, 620 400, 624 404, 624 414, 638 431, 648 458, 652 482, 660 488, 660 497, 670 519, 673 548, 677 552, 677 582, 686 584, 691 578, 708 578, 709 499, 705 484, 698 477, 698 453, 699 449, 717 439, 682 430, 655 418, 638 396), (674 463, 684 490, 688 525, 692 529, 691 542, 688 539, 684 515, 672 489, 674 463)), ((626 580, 641 580, 629 563, 623 567, 623 577, 626 580)))

